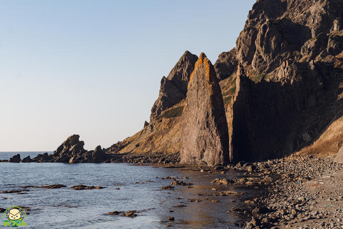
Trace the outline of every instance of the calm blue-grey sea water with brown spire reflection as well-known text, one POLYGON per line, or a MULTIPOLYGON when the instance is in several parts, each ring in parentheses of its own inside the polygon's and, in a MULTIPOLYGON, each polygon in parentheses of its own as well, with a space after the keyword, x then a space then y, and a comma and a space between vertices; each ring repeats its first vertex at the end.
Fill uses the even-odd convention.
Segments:
MULTIPOLYGON (((8 159, 17 153, 0 153, 0 159, 8 159)), ((27 155, 32 158, 38 153, 42 152, 20 152, 21 158, 27 155)), ((166 228, 167 225, 174 228, 235 228, 238 215, 228 210, 243 207, 243 201, 254 195, 253 190, 229 186, 228 190, 245 192, 239 197, 207 197, 197 193, 214 193, 211 191, 214 178, 237 179, 242 176, 239 173, 221 175, 117 163, 0 163, 0 192, 20 190, 20 186, 25 185, 67 185, 60 189, 28 188, 24 194, 0 193, 0 207, 30 207, 25 219, 27 226, 22 228, 166 228), (184 181, 194 183, 193 188, 175 186, 175 190, 159 190, 172 182, 161 179, 166 176, 188 177, 184 181), (147 180, 153 182, 145 182, 147 180), (78 184, 106 188, 70 188, 78 184), (116 190, 118 187, 120 189, 116 190), (193 198, 202 201, 190 203, 188 199, 193 198), (203 200, 205 198, 208 200, 203 200), (219 200, 219 203, 211 200, 219 200), (173 207, 178 204, 186 206, 173 207), (128 210, 142 212, 135 218, 106 215, 110 211, 128 210), (173 216, 175 221, 168 221, 169 216, 173 216)), ((2 213, 0 217, 3 227, 2 213)))

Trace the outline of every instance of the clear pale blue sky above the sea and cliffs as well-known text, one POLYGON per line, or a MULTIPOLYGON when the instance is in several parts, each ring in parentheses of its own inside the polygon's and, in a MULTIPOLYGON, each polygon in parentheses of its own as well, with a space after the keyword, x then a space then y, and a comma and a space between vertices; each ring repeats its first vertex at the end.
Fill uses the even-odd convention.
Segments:
POLYGON ((256 0, 2 0, 0 152, 86 150, 143 128, 181 55, 214 64, 256 0))

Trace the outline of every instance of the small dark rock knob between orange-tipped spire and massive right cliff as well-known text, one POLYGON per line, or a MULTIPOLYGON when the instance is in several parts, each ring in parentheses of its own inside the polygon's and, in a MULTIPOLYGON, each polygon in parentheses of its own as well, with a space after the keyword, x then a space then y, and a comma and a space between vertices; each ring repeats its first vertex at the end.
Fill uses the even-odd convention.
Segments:
POLYGON ((214 64, 217 77, 222 80, 231 76, 237 70, 237 65, 235 48, 231 51, 222 52, 214 64))

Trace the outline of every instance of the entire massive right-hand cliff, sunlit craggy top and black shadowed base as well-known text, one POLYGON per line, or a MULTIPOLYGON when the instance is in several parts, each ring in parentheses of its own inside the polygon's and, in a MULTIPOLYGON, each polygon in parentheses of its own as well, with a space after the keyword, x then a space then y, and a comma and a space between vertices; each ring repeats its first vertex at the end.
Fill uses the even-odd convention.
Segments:
POLYGON ((231 161, 301 150, 341 117, 343 1, 259 0, 237 39, 231 161), (245 72, 243 71, 245 69, 245 72))

